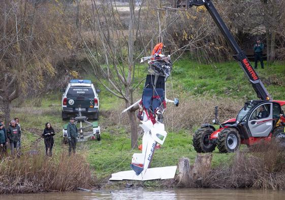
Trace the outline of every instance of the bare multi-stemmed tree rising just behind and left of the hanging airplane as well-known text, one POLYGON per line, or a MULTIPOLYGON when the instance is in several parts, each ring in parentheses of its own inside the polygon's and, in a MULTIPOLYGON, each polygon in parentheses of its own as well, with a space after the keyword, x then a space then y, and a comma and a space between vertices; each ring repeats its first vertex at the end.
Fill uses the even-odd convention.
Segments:
MULTIPOLYGON (((139 39, 139 13, 141 7, 135 11, 135 1, 129 2, 127 18, 120 19, 114 2, 92 1, 91 14, 82 11, 84 5, 78 4, 77 28, 81 39, 84 40, 81 25, 88 20, 88 31, 93 38, 93 46, 84 40, 84 49, 89 62, 94 69, 94 75, 112 95, 123 99, 125 106, 134 103, 135 80, 135 41, 139 39), (128 11, 129 10, 129 11, 128 11), (83 12, 83 13, 82 13, 83 12), (124 24, 123 20, 129 22, 124 24), (107 81, 105 81, 107 80, 107 81)), ((87 11, 89 12, 89 11, 87 11)), ((86 25, 86 24, 85 24, 86 25)), ((114 99, 115 101, 115 99, 114 99)), ((128 111, 131 124, 132 147, 137 146, 138 128, 135 110, 128 111)), ((118 116, 119 117, 119 116, 118 116)))

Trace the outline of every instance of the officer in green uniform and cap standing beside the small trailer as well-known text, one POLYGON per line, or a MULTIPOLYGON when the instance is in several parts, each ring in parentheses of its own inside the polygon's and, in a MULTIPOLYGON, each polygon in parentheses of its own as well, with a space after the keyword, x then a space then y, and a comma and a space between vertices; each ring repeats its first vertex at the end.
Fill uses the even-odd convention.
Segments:
POLYGON ((78 130, 76 125, 74 124, 75 120, 74 118, 70 118, 69 123, 67 125, 67 136, 68 136, 68 153, 71 155, 71 150, 75 154, 75 149, 76 149, 76 141, 77 141, 77 136, 78 136, 78 130))

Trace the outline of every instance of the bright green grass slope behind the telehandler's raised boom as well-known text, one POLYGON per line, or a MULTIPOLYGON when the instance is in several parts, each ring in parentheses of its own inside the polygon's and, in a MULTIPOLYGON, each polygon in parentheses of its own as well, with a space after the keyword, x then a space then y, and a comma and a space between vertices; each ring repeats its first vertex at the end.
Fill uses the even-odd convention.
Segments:
MULTIPOLYGON (((284 63, 276 63, 265 69, 258 68, 257 73, 274 99, 285 99, 284 63), (275 76, 281 85, 268 85, 267 82, 275 76)), ((178 91, 187 95, 257 99, 254 89, 237 62, 206 65, 180 60, 173 67, 173 82, 178 91)))

